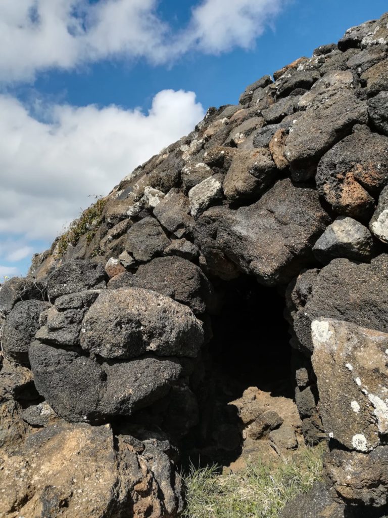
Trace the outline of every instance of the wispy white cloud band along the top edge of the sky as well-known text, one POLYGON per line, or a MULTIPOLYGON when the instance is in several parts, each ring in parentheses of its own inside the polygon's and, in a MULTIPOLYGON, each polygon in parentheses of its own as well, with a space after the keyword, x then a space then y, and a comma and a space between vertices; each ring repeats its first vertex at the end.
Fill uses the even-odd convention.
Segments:
POLYGON ((165 63, 190 50, 247 48, 287 1, 202 0, 174 33, 157 16, 157 0, 1 0, 0 80, 112 57, 165 63))

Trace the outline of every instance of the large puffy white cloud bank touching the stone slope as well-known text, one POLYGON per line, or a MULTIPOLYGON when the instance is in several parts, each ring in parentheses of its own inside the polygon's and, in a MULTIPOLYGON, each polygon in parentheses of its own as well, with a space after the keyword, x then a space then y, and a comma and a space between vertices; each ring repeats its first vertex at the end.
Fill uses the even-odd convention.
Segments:
POLYGON ((0 256, 17 261, 28 240, 53 239, 93 202, 88 196, 107 194, 203 115, 193 92, 163 90, 147 114, 55 105, 46 108, 51 121, 41 122, 0 95, 0 233, 22 236, 0 256))

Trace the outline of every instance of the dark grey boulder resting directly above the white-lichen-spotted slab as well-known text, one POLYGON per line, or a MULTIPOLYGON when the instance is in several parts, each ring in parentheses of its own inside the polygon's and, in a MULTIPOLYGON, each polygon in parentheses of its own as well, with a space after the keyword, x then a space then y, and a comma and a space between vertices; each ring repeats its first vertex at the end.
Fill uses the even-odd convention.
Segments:
POLYGON ((313 350, 311 322, 321 317, 388 333, 388 255, 381 254, 370 264, 334 259, 312 276, 308 291, 306 302, 294 314, 293 323, 306 353, 313 350))

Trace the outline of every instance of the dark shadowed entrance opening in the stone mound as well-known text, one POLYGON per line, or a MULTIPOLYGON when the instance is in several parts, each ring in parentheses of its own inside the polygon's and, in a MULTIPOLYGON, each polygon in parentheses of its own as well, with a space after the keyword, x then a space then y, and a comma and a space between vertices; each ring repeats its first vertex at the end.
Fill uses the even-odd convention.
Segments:
POLYGON ((213 338, 204 352, 206 375, 197 393, 200 425, 189 456, 198 465, 227 466, 243 450, 247 423, 239 405, 244 394, 249 406, 247 389, 257 387, 251 398, 262 394, 268 410, 271 397, 293 399, 294 394, 284 297, 248 276, 220 283, 217 292, 221 311, 212 316, 213 338))

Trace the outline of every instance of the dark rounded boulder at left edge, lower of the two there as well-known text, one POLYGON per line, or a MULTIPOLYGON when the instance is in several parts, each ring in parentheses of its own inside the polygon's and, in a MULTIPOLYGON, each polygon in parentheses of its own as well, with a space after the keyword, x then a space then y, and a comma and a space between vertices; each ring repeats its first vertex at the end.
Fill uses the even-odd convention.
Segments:
POLYGON ((40 313, 49 307, 42 300, 23 300, 13 307, 2 331, 2 348, 7 358, 28 367, 28 348, 40 327, 40 313))

